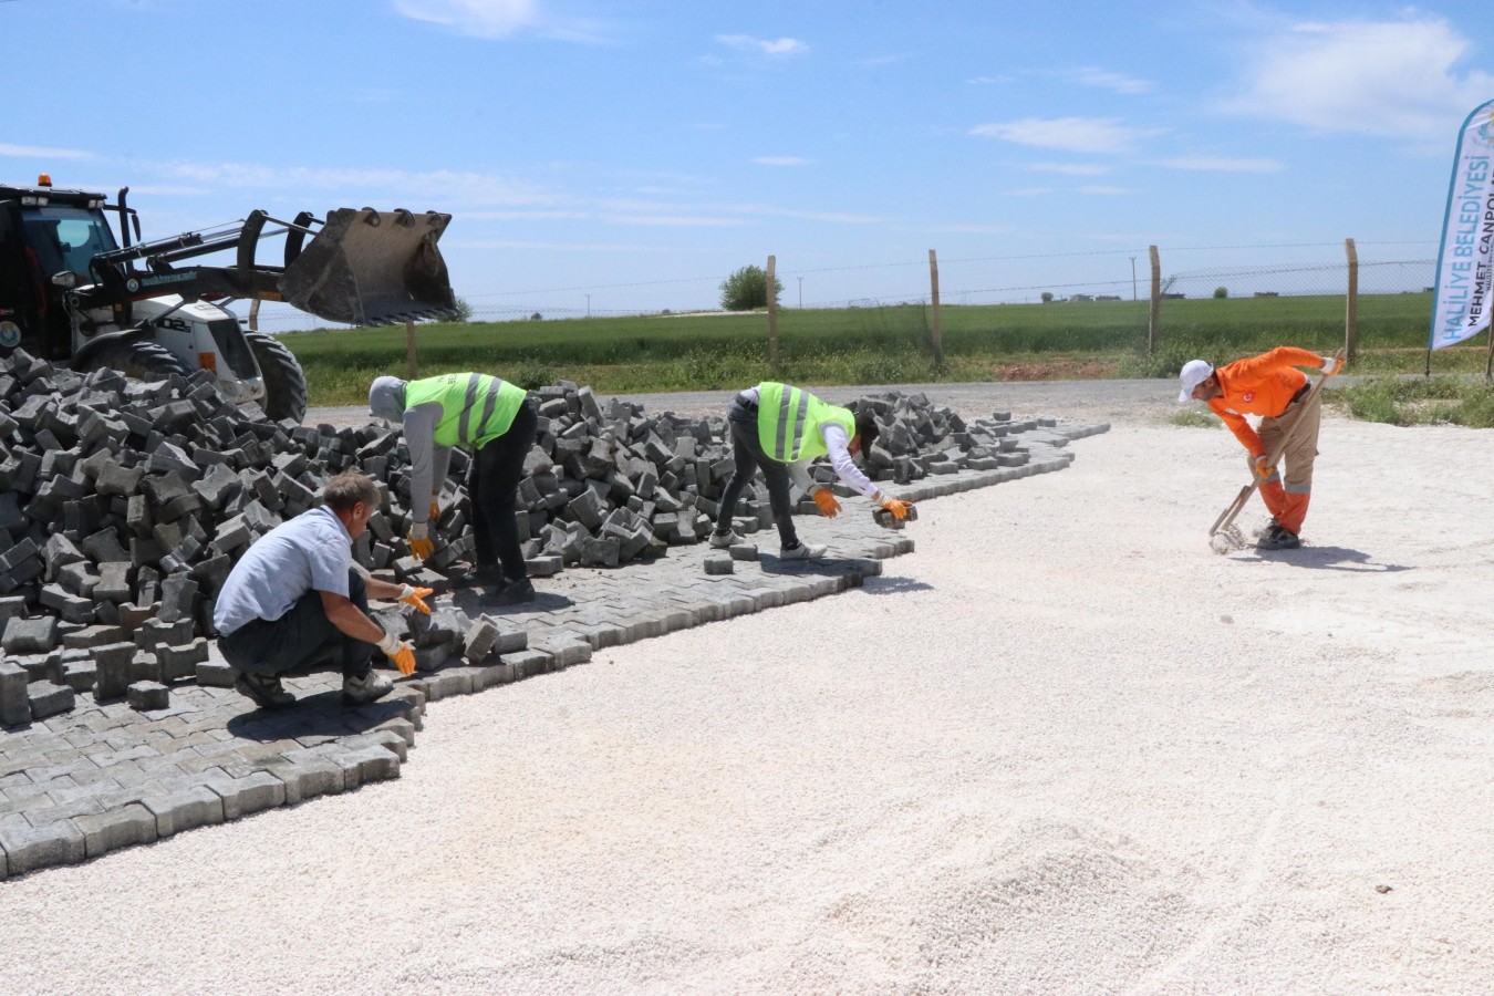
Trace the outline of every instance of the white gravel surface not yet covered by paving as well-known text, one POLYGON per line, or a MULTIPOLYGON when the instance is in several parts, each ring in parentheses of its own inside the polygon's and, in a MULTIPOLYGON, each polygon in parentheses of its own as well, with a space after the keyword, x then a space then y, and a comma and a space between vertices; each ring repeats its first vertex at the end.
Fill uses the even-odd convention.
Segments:
POLYGON ((396 782, 0 883, 0 992, 1490 992, 1494 433, 1331 420, 1310 547, 1228 557, 1227 433, 1074 449, 396 782))

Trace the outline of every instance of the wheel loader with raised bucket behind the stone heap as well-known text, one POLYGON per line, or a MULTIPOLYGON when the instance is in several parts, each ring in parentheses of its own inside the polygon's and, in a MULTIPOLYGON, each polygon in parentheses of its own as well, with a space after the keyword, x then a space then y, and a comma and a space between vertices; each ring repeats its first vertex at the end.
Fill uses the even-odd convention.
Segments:
POLYGON ((224 305, 287 302, 327 321, 379 326, 450 314, 456 303, 436 248, 451 215, 338 208, 281 221, 254 211, 142 242, 128 191, 108 203, 55 190, 45 173, 36 187, 0 185, 0 355, 21 346, 76 370, 142 379, 209 369, 232 400, 300 421, 306 376, 296 357, 241 327, 224 305), (118 239, 106 212, 118 217, 118 239), (282 261, 258 261, 260 242, 279 236, 282 261), (215 252, 233 263, 194 263, 215 252))

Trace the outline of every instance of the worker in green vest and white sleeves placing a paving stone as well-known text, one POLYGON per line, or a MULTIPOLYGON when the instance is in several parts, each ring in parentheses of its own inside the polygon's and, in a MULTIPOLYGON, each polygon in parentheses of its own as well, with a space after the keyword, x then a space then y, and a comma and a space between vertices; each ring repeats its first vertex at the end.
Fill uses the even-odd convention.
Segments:
POLYGON ((726 424, 732 430, 732 455, 737 470, 722 493, 722 508, 711 533, 713 547, 731 547, 743 542, 732 532, 732 515, 737 514, 737 499, 751 482, 757 469, 768 481, 768 503, 778 524, 778 541, 783 560, 817 560, 825 555, 825 547, 799 542, 793 529, 789 506, 789 481, 807 491, 820 514, 826 518, 840 515, 840 502, 831 490, 814 482, 808 463, 814 457, 829 454, 835 475, 865 494, 895 518, 908 514, 911 502, 889 497, 856 469, 852 455, 870 449, 877 439, 875 420, 864 412, 852 414, 849 408, 828 405, 808 391, 787 384, 763 381, 748 387, 732 399, 726 409, 726 424))

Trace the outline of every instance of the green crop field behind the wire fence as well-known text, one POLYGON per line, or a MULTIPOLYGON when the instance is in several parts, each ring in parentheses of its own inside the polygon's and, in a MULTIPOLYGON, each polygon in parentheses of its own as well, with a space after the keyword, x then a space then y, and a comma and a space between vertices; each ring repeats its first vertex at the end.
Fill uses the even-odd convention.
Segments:
MULTIPOLYGON (((1228 361, 1277 345, 1333 352, 1345 300, 1243 297, 1167 300, 1147 355, 1146 302, 944 306, 943 363, 923 305, 778 312, 780 361, 768 318, 750 314, 645 315, 417 327, 418 373, 496 373, 524 387, 569 379, 599 391, 729 388, 765 378, 798 384, 889 384, 1171 376, 1183 361, 1228 361)), ((1419 372, 1430 294, 1363 296, 1357 373, 1419 372)), ((381 373, 403 376, 403 327, 288 333, 312 405, 356 405, 381 373)), ((1484 346, 1443 349, 1439 372, 1484 369, 1484 346)))

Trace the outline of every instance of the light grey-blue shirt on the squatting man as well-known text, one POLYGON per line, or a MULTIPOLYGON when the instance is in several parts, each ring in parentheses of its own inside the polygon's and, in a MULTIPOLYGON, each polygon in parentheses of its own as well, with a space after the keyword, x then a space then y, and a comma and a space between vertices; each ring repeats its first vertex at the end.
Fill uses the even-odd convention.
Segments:
POLYGON ((212 624, 227 636, 249 620, 278 620, 308 591, 348 597, 353 538, 330 508, 281 523, 233 564, 212 624))

